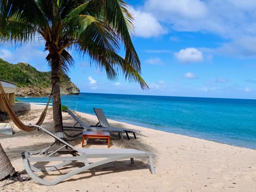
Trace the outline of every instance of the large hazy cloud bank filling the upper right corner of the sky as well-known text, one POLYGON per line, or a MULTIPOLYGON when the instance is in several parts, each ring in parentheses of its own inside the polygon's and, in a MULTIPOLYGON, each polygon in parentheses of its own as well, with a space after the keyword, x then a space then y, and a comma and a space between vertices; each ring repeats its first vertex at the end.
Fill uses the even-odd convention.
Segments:
POLYGON ((220 35, 227 39, 218 49, 222 54, 255 57, 255 9, 255 0, 147 0, 141 11, 154 15, 170 31, 220 35))

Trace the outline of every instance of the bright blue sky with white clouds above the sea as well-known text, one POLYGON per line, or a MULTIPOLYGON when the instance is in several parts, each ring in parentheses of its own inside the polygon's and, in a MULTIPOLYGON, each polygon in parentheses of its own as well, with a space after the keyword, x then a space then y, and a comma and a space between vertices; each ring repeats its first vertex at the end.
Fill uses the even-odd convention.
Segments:
MULTIPOLYGON (((69 76, 81 92, 256 99, 256 1, 126 0, 132 41, 150 87, 109 81, 74 51, 69 76)), ((0 58, 48 71, 44 43, 0 46, 0 58)))

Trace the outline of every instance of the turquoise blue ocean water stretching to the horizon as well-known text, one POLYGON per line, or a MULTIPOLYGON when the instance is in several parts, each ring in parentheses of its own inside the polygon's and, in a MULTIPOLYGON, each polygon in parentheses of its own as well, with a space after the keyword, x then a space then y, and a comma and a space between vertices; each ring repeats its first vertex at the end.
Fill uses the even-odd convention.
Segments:
POLYGON ((63 95, 61 103, 92 115, 93 107, 102 108, 116 121, 256 149, 256 100, 81 93, 63 95))

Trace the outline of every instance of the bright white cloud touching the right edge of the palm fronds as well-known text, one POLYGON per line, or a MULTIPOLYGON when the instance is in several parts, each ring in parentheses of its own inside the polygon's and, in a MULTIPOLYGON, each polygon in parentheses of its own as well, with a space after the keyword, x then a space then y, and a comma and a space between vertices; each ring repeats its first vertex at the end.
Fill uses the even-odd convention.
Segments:
POLYGON ((156 18, 150 13, 133 10, 133 15, 135 36, 149 38, 167 33, 156 18))

